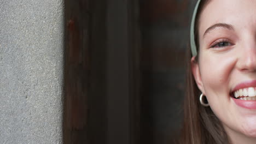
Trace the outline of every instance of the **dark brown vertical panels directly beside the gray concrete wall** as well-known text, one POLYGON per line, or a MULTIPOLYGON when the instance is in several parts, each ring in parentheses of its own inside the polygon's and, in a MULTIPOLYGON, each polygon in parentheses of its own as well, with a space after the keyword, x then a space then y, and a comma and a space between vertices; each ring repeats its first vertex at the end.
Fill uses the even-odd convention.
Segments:
POLYGON ((138 2, 65 0, 64 143, 139 143, 138 2))

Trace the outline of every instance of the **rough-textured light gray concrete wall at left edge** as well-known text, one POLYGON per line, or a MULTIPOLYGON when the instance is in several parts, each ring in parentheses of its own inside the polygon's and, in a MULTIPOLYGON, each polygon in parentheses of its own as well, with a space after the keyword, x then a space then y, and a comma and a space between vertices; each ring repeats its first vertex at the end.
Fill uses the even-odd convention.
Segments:
POLYGON ((63 1, 0 0, 0 143, 62 143, 63 1))

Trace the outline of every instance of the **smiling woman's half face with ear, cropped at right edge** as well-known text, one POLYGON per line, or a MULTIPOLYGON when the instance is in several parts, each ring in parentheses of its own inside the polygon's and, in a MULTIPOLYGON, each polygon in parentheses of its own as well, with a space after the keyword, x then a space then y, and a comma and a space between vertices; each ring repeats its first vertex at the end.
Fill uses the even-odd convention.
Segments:
POLYGON ((232 141, 256 138, 256 1, 214 0, 199 19, 197 86, 232 141))

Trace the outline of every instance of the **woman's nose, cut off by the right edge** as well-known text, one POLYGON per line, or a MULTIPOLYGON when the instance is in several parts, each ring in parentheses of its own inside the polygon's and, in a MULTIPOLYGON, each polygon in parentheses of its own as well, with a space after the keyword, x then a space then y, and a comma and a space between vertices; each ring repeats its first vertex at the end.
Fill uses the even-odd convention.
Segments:
POLYGON ((256 71, 256 40, 255 38, 251 42, 247 41, 240 51, 237 61, 237 67, 242 71, 256 71))

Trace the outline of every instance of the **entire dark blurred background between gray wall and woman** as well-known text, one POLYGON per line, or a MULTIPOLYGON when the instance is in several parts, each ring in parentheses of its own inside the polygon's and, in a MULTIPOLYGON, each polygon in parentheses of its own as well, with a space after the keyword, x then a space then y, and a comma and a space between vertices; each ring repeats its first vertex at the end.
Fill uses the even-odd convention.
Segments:
POLYGON ((65 0, 64 143, 170 143, 189 0, 65 0))

